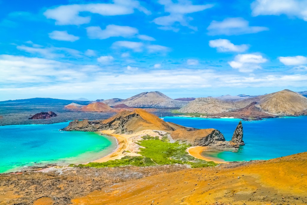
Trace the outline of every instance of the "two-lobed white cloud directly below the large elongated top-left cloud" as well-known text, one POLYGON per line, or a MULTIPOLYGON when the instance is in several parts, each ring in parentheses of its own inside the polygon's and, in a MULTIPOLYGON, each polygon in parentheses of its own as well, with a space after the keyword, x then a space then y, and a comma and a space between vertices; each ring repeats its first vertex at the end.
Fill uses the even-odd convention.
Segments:
POLYGON ((90 26, 86 28, 87 36, 93 39, 107 39, 110 37, 133 37, 138 33, 138 29, 130 26, 107 25, 102 30, 99 26, 90 26))

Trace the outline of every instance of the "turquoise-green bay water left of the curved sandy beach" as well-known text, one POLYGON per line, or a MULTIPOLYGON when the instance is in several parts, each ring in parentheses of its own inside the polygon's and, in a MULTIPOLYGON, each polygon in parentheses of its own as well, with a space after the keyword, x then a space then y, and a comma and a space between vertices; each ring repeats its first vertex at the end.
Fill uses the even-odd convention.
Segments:
POLYGON ((116 149, 114 137, 60 131, 67 125, 68 122, 0 126, 0 173, 31 165, 85 163, 116 149))

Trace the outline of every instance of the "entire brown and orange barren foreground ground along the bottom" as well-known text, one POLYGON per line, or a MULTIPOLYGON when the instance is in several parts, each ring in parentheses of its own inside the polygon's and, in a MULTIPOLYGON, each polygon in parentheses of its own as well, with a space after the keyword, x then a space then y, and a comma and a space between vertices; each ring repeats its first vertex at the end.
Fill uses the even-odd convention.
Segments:
POLYGON ((306 159, 1 174, 0 204, 306 204, 306 159))

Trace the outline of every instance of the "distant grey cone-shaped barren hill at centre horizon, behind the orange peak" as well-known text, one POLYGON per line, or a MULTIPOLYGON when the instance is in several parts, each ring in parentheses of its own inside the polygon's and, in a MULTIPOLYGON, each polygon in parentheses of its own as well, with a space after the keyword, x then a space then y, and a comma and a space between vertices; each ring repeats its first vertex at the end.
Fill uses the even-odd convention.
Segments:
POLYGON ((154 91, 134 95, 131 98, 114 103, 114 105, 125 104, 129 107, 182 107, 187 103, 187 101, 174 100, 161 92, 154 91))

